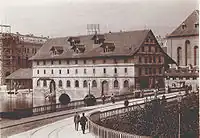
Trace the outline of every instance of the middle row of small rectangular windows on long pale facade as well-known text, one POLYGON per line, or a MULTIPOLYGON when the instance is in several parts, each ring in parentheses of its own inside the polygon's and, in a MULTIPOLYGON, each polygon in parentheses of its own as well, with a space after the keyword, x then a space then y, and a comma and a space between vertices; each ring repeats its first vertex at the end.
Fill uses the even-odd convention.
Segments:
MULTIPOLYGON (((69 74, 69 69, 67 69, 67 74, 69 74)), ((114 73, 117 73, 117 68, 114 68, 114 73)), ((127 73, 128 72, 128 69, 127 68, 124 68, 124 73, 127 73)), ((93 69, 93 74, 96 73, 96 70, 93 69)), ((106 73, 106 68, 103 68, 103 73, 106 73)), ((37 70, 37 74, 40 74, 40 71, 37 70)), ((44 74, 46 74, 46 70, 44 70, 44 74)), ((52 69, 51 70, 51 74, 54 74, 54 70, 52 69)), ((59 70, 59 74, 62 74, 62 70, 59 70)), ((78 74, 78 69, 75 69, 75 74, 78 74)), ((87 69, 84 69, 84 74, 87 74, 87 69)))

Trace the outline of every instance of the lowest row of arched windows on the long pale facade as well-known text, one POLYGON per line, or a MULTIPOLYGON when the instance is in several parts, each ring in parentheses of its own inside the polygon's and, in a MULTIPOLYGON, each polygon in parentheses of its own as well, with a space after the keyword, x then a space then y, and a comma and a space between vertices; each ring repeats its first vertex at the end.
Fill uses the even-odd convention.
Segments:
MULTIPOLYGON (((40 80, 37 81, 37 86, 40 86, 40 80)), ((47 87, 47 80, 43 80, 43 86, 44 86, 44 87, 47 87)), ((115 80, 115 81, 114 81, 113 86, 114 86, 114 88, 119 88, 119 82, 118 82, 118 80, 115 80)), ((58 81, 58 87, 63 87, 63 82, 62 82, 62 80, 59 80, 59 81, 58 81)), ((68 87, 68 88, 71 87, 71 82, 70 82, 70 80, 67 80, 67 82, 66 82, 66 87, 68 87)), ((79 88, 79 81, 78 81, 78 80, 75 80, 74 87, 79 88)), ((83 88, 86 88, 86 87, 88 87, 88 81, 87 81, 87 80, 84 80, 84 81, 83 81, 83 88)), ((96 87, 97 87, 97 82, 96 82, 96 80, 93 80, 93 81, 92 81, 92 88, 96 88, 96 87)), ((128 82, 128 80, 125 80, 125 81, 124 81, 123 87, 124 87, 124 88, 128 88, 128 87, 129 87, 129 82, 128 82)))

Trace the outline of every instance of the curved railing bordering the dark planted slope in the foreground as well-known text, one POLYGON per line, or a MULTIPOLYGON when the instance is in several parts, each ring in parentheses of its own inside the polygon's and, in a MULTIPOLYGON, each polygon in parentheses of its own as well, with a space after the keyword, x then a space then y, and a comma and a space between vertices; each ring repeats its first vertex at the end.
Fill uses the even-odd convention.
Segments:
MULTIPOLYGON (((184 91, 184 89, 182 91, 184 91)), ((177 99, 177 95, 166 98, 166 100, 169 100, 169 101, 173 101, 175 99, 177 99)), ((127 112, 134 111, 137 106, 142 106, 144 104, 145 103, 142 102, 142 103, 135 104, 128 107, 115 108, 115 109, 111 109, 111 110, 107 110, 103 112, 97 111, 90 114, 88 118, 89 132, 93 133, 95 137, 97 138, 152 138, 151 136, 139 136, 139 135, 130 134, 126 132, 116 131, 116 130, 101 126, 98 123, 99 121, 102 121, 106 118, 110 118, 116 115, 122 115, 127 112)))

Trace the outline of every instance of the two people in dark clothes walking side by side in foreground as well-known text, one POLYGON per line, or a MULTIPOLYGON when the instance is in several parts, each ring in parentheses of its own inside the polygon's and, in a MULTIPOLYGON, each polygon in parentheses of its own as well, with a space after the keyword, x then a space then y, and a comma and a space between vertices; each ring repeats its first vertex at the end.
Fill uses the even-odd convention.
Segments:
POLYGON ((85 126, 87 123, 87 118, 85 117, 85 113, 82 113, 82 117, 76 112, 74 115, 74 124, 75 124, 75 130, 78 131, 79 123, 81 125, 81 129, 83 131, 83 134, 85 134, 85 126))

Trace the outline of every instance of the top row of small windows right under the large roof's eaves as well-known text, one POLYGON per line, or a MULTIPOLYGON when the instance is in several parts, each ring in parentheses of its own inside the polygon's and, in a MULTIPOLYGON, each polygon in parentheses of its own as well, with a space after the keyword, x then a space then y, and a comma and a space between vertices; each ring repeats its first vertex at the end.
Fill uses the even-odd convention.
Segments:
MULTIPOLYGON (((78 61, 79 60, 74 60, 74 64, 78 64, 78 61)), ((66 62, 67 62, 67 64, 69 64, 70 60, 67 60, 66 62)), ((103 64, 105 64, 106 62, 107 61, 105 59, 102 61, 103 64)), ((92 63, 95 64, 96 61, 92 60, 92 63)), ((117 63, 117 59, 113 59, 113 63, 116 64, 117 63)), ((128 59, 124 59, 124 63, 128 63, 128 59)), ((58 64, 61 65, 62 64, 62 60, 58 60, 58 64)), ((83 64, 87 64, 87 60, 83 60, 83 64)), ((39 61, 37 61, 37 65, 40 65, 39 61)), ((46 65, 46 61, 43 61, 43 65, 46 65)), ((54 61, 53 60, 51 60, 51 65, 54 65, 54 61)))

